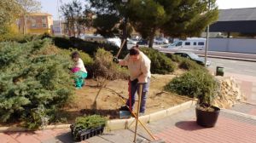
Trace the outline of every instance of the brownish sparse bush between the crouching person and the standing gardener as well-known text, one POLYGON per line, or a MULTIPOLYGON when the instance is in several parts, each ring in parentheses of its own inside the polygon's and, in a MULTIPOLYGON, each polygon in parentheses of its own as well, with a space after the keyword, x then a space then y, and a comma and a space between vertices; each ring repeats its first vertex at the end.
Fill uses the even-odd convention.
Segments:
POLYGON ((93 77, 103 77, 109 80, 127 78, 128 72, 125 68, 113 63, 113 55, 104 50, 98 49, 95 55, 95 62, 88 70, 93 73, 93 77))

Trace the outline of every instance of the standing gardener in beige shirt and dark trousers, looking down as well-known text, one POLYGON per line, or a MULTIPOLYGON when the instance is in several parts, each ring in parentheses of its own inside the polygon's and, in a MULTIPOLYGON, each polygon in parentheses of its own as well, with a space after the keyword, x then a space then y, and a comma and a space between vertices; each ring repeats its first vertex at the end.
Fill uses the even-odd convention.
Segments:
POLYGON ((130 49, 130 54, 125 56, 124 60, 118 60, 116 57, 113 59, 114 62, 119 63, 120 66, 128 66, 130 72, 129 81, 129 100, 126 105, 133 109, 135 103, 135 94, 139 90, 139 84, 143 84, 142 102, 140 106, 140 116, 144 114, 146 109, 146 98, 150 83, 150 63, 147 55, 143 54, 142 51, 133 47, 130 49))

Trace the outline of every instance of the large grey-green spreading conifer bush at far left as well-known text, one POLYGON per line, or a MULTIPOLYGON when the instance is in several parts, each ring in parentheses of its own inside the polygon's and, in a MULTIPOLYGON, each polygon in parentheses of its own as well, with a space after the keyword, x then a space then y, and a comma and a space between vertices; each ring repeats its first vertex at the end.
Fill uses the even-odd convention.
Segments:
POLYGON ((49 39, 0 43, 0 122, 38 128, 73 94, 72 60, 49 39))

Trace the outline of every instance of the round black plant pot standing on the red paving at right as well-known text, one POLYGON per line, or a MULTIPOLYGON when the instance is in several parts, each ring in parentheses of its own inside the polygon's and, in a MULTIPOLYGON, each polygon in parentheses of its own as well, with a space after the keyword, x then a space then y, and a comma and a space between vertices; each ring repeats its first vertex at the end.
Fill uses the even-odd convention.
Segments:
POLYGON ((202 127, 211 128, 214 127, 218 120, 218 114, 220 109, 216 106, 212 106, 213 112, 203 111, 199 108, 195 108, 196 123, 202 127))

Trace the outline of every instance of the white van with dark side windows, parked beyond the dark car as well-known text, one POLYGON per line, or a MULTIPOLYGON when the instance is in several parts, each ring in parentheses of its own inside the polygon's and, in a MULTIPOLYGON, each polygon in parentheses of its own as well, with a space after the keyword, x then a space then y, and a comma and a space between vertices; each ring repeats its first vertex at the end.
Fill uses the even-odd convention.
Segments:
POLYGON ((204 50, 206 48, 206 38, 191 37, 186 40, 177 40, 168 46, 168 49, 194 49, 204 50))

